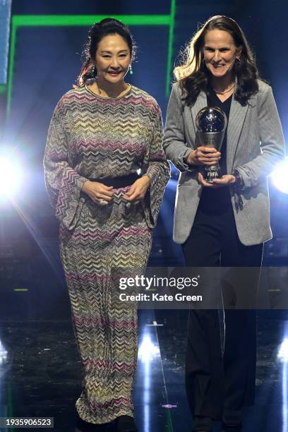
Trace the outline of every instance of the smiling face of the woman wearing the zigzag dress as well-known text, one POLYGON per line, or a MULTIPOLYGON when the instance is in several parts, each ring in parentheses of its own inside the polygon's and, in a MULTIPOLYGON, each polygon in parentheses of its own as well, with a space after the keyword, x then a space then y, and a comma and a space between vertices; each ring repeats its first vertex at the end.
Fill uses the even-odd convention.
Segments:
POLYGON ((126 40, 120 35, 107 35, 100 40, 95 66, 99 82, 117 85, 123 81, 131 63, 131 53, 126 40))

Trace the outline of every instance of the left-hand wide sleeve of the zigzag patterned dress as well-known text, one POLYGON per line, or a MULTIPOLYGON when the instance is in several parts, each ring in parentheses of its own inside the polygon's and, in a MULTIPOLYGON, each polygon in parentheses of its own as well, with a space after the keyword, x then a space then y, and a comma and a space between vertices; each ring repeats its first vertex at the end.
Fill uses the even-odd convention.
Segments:
POLYGON ((45 184, 56 217, 67 229, 73 229, 84 202, 80 191, 87 179, 80 176, 68 160, 66 131, 60 110, 61 102, 54 110, 48 131, 44 152, 45 184))

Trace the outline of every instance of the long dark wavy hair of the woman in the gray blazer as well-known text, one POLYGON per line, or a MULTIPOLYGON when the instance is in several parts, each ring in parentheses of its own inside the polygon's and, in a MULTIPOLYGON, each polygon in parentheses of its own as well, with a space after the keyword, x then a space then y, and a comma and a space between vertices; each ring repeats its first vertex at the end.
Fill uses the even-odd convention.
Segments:
POLYGON ((241 57, 235 61, 233 66, 233 72, 237 78, 234 97, 241 105, 246 105, 249 97, 258 92, 258 69, 243 30, 236 21, 223 15, 212 16, 196 32, 186 47, 183 64, 174 69, 174 75, 179 80, 184 100, 186 104, 193 105, 201 90, 209 94, 209 71, 203 61, 204 45, 207 32, 215 29, 228 32, 233 37, 235 46, 241 48, 241 57))

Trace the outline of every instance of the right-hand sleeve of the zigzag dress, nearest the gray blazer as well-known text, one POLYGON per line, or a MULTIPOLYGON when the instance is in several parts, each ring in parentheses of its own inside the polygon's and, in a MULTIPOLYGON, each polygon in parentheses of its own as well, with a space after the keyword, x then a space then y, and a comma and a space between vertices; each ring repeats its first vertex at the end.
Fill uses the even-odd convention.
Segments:
POLYGON ((142 164, 142 174, 150 178, 150 189, 145 196, 144 212, 148 227, 153 228, 160 210, 164 187, 170 178, 169 162, 166 160, 162 147, 163 125, 158 106, 151 127, 153 129, 152 141, 142 164))

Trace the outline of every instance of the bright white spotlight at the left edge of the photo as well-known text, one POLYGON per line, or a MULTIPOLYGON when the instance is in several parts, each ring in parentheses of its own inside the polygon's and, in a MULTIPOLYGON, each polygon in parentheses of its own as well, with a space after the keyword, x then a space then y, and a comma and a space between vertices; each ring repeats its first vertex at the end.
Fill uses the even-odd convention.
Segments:
POLYGON ((20 167, 8 157, 0 157, 0 197, 11 196, 20 186, 20 167))

